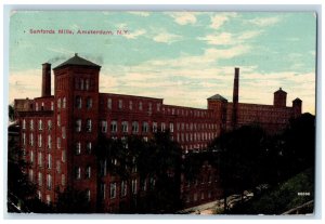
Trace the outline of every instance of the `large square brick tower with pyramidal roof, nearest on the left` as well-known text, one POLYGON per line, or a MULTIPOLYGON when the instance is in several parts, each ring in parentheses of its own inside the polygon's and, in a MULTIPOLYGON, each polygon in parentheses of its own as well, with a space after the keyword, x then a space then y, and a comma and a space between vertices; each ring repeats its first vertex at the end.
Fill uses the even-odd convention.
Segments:
POLYGON ((53 69, 55 157, 66 160, 55 182, 63 182, 65 176, 67 187, 86 192, 92 208, 96 200, 93 146, 98 141, 100 69, 78 54, 53 69))

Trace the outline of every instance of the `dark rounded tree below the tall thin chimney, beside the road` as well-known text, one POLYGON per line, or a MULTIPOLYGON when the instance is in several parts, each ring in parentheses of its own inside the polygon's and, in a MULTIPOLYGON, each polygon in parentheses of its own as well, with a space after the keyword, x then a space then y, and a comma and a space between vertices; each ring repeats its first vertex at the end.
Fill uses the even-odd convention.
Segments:
POLYGON ((209 146, 220 154, 220 179, 226 197, 231 194, 244 194, 260 182, 263 170, 262 155, 265 151, 266 135, 257 126, 244 126, 232 132, 223 133, 209 146))

